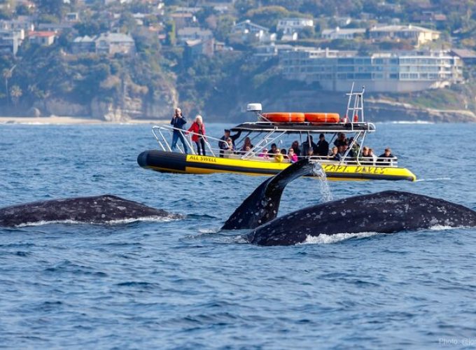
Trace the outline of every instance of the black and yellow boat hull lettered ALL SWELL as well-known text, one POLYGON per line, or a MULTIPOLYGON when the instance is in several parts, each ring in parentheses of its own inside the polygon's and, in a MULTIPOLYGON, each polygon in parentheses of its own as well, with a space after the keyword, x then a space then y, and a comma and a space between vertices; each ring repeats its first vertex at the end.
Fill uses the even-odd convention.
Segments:
MULTIPOLYGON (((159 150, 142 152, 137 157, 139 165, 157 172, 180 174, 235 173, 244 175, 275 175, 290 163, 241 158, 219 158, 208 155, 186 155, 159 150)), ((325 174, 332 181, 407 180, 416 176, 405 168, 360 165, 322 164, 325 174)))

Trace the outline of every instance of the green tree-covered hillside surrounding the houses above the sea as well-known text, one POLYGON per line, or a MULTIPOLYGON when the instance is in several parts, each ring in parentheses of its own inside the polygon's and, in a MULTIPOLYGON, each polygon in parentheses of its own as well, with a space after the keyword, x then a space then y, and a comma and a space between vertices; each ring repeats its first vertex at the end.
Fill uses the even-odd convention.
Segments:
MULTIPOLYGON (((428 48, 432 45, 476 48, 473 39, 476 4, 468 0, 391 3, 375 0, 338 3, 238 0, 233 4, 231 1, 224 3, 227 10, 195 1, 110 2, 103 6, 99 1, 38 0, 31 8, 15 2, 13 6, 5 6, 4 2, 0 5, 3 27, 20 22, 20 18, 29 18, 35 27, 56 26, 59 29, 55 29, 55 41, 49 45, 36 43, 30 34, 14 55, 0 51, 3 52, 0 53, 3 76, 0 113, 89 116, 106 120, 160 119, 168 118, 174 106, 179 105, 188 115, 202 113, 209 120, 235 120, 243 118, 246 103, 259 101, 267 109, 342 111, 342 105, 335 98, 340 94, 322 92, 318 84, 303 85, 285 80, 276 58, 253 56, 260 43, 243 41, 232 35, 234 23, 246 19, 276 31, 276 42, 281 43, 279 38, 283 33, 276 27, 279 19, 314 18, 314 27, 300 32, 300 39, 288 42, 289 45, 325 45, 361 52, 408 48, 409 43, 374 43, 367 38, 329 41, 323 40, 320 33, 338 25, 346 16, 353 19, 347 25, 349 28, 368 28, 376 22, 428 21, 423 25, 442 33, 438 41, 428 44, 428 48), (213 55, 207 52, 197 55, 190 40, 180 42, 181 22, 176 18, 190 18, 181 15, 187 14, 186 11, 193 13, 192 28, 202 34, 211 33, 220 43, 220 50, 215 46, 213 55), (67 22, 65 18, 71 17, 71 13, 78 19, 67 22), (95 40, 99 43, 99 37, 105 32, 106 35, 109 32, 126 34, 134 43, 133 50, 109 54, 99 50, 77 50, 78 38, 98 38, 95 40)), ((474 120, 476 89, 471 72, 472 66, 466 66, 465 83, 443 90, 369 94, 369 113, 375 111, 381 118, 381 115, 391 115, 381 113, 388 109, 398 110, 392 116, 402 116, 402 111, 408 109, 412 118, 474 120), (438 114, 440 110, 449 112, 438 114)))

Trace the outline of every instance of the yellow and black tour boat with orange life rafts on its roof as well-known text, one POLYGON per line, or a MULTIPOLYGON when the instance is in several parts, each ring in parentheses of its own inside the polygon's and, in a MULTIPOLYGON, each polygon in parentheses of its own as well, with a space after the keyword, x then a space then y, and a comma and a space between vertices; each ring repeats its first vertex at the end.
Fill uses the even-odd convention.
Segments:
MULTIPOLYGON (((339 138, 349 140, 346 149, 339 155, 319 154, 312 152, 302 154, 299 158, 309 158, 318 162, 329 180, 408 180, 415 181, 416 176, 408 169, 398 167, 398 159, 370 158, 363 151, 365 137, 375 132, 375 125, 364 120, 363 94, 349 94, 347 111, 344 118, 337 113, 262 113, 260 104, 248 104, 248 111, 256 113, 258 121, 241 123, 230 132, 237 137, 237 144, 244 144, 247 139, 250 147, 241 151, 228 151, 223 147, 225 141, 207 135, 205 148, 207 155, 197 155, 190 140, 190 135, 184 130, 168 125, 154 126, 153 135, 160 149, 142 152, 137 158, 141 167, 158 172, 181 174, 212 174, 216 172, 231 172, 245 175, 275 175, 286 169, 291 162, 290 157, 281 158, 267 153, 272 145, 291 144, 299 139, 303 146, 313 148, 313 140, 327 139, 329 145, 338 144, 339 138), (348 117, 350 116, 350 118, 348 117), (178 148, 172 152, 168 140, 173 132, 179 132, 186 141, 190 154, 178 148), (216 145, 212 146, 212 143, 216 145), (254 145, 253 145, 254 144, 254 145), (270 156, 270 157, 269 157, 270 156)), ((327 143, 327 141, 326 141, 327 143)), ((313 146, 314 145, 314 146, 313 146)))

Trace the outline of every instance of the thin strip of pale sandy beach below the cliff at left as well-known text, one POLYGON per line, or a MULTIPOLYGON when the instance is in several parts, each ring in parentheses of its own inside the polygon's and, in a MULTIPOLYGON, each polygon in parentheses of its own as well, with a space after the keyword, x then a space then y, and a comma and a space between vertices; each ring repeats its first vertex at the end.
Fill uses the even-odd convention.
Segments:
POLYGON ((55 124, 55 125, 80 125, 80 124, 163 124, 167 123, 169 120, 165 119, 132 119, 124 120, 120 122, 109 122, 101 119, 94 118, 80 118, 80 117, 59 117, 59 116, 50 116, 50 117, 0 117, 0 124, 31 124, 31 125, 46 125, 46 124, 55 124))

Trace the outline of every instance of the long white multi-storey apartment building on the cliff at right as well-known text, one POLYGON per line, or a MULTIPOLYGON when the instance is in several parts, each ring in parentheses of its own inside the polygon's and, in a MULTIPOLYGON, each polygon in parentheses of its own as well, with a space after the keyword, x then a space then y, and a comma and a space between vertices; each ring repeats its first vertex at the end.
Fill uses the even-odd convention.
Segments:
POLYGON ((352 82, 369 92, 411 92, 462 80, 462 62, 447 51, 378 52, 293 48, 279 54, 283 76, 347 91, 352 82))

